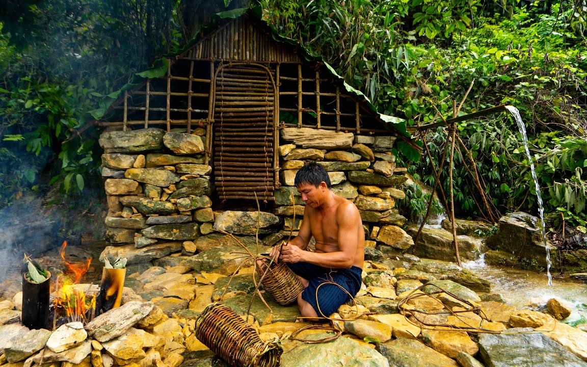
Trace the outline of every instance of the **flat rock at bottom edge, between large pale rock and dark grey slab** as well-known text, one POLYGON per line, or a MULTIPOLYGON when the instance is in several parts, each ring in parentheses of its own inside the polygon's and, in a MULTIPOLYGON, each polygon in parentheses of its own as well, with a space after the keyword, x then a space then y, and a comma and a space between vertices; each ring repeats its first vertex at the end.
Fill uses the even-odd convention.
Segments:
POLYGON ((457 362, 414 339, 399 338, 377 345, 390 366, 458 367, 457 362))

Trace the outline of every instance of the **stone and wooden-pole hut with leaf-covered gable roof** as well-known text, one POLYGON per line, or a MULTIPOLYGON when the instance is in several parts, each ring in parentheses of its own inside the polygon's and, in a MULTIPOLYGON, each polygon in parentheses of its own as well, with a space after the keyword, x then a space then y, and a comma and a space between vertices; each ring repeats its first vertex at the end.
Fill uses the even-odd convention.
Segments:
POLYGON ((405 124, 328 63, 244 14, 162 65, 98 122, 116 246, 107 251, 193 255, 214 230, 279 241, 299 228, 294 176, 305 161, 319 161, 333 190, 355 201, 370 245, 409 241, 394 207, 405 169, 392 154, 396 141, 414 147, 405 124), (247 210, 256 200, 261 215, 247 210))

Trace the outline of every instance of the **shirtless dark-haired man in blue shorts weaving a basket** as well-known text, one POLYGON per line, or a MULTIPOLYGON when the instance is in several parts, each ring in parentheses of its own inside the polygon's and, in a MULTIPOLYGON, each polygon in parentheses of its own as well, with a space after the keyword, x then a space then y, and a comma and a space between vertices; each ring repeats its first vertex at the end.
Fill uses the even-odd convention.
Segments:
POLYGON ((328 173, 319 164, 302 167, 294 182, 306 203, 301 228, 297 237, 282 246, 281 254, 275 247, 272 255, 278 255, 302 280, 304 289, 298 295, 302 316, 329 317, 360 289, 363 223, 355 204, 330 190, 328 173), (312 236, 316 250, 306 251, 312 236))

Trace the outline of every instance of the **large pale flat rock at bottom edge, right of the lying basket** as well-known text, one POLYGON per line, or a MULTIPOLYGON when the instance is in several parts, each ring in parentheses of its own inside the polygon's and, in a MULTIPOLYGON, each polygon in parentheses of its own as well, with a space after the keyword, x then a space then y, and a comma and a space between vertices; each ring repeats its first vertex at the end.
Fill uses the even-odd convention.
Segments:
MULTIPOLYGON (((330 334, 313 334, 308 338, 323 338, 330 334)), ((349 338, 321 344, 295 342, 281 356, 281 367, 352 366, 389 367, 387 360, 369 348, 349 338)))

